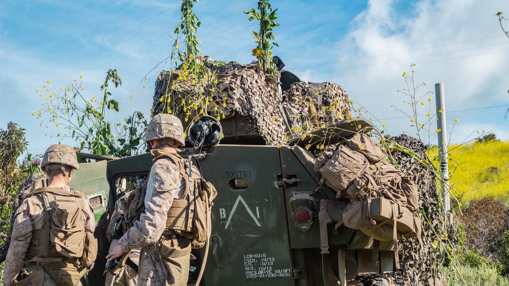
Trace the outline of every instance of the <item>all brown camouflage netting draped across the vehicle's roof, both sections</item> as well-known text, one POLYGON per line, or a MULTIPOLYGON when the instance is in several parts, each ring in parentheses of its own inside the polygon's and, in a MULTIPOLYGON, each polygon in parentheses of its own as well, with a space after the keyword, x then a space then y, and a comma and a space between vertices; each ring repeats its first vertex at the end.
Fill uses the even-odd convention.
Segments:
MULTIPOLYGON (((268 144, 285 144, 305 132, 352 117, 348 95, 337 84, 297 82, 280 96, 277 82, 257 63, 240 65, 231 61, 208 69, 213 77, 202 78, 200 87, 190 78, 182 81, 180 70, 161 72, 156 80, 152 116, 163 112, 161 97, 169 94, 169 106, 184 127, 205 113, 220 120, 249 118, 255 129, 252 133, 263 136, 268 144), (201 88, 203 97, 211 99, 206 107, 196 106, 196 100, 190 99, 195 88, 201 88), (285 125, 281 109, 289 115, 289 126, 285 125), (293 132, 286 133, 289 129, 293 132)), ((223 124, 224 136, 238 135, 227 129, 223 124)))

